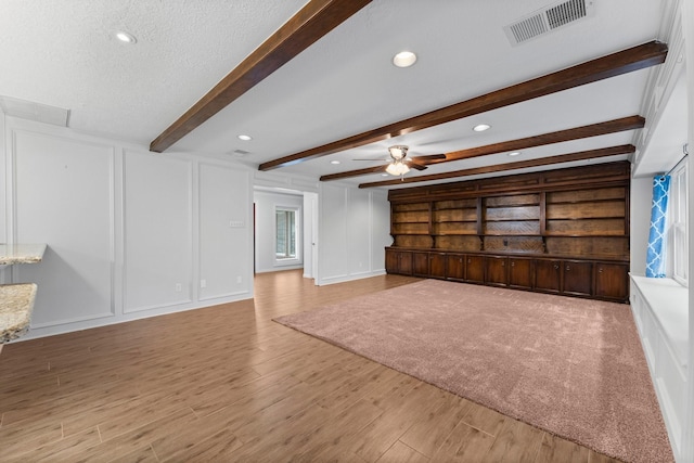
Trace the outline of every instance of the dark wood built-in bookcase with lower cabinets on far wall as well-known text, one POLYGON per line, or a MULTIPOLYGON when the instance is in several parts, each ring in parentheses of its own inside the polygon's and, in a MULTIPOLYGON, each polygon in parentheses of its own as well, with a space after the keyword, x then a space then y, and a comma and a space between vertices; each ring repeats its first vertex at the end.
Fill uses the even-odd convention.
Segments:
POLYGON ((389 273, 627 301, 629 163, 391 190, 389 273))

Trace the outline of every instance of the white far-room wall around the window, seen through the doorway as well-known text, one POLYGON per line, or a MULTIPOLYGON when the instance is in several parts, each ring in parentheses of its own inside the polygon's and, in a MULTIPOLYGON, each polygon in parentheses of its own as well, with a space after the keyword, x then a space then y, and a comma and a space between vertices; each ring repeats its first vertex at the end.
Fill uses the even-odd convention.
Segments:
POLYGON ((269 191, 255 191, 253 194, 256 205, 256 272, 274 272, 278 270, 300 269, 304 267, 304 196, 300 194, 280 194, 269 191), (274 235, 277 207, 295 207, 298 209, 297 226, 297 256, 296 259, 275 258, 274 235))

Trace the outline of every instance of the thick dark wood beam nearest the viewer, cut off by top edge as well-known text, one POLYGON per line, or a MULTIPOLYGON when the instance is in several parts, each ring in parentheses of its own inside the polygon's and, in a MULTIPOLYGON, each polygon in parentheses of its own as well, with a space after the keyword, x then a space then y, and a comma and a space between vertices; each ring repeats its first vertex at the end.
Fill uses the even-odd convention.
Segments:
POLYGON ((309 1, 152 141, 150 150, 164 152, 369 3, 371 0, 309 1))

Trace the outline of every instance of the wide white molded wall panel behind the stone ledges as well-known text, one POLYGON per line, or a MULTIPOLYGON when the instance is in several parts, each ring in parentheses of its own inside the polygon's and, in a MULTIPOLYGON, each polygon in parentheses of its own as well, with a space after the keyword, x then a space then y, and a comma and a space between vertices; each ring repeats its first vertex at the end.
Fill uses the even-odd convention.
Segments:
POLYGON ((15 266, 41 288, 34 327, 114 316, 114 147, 15 129, 14 239, 48 243, 43 261, 15 266))

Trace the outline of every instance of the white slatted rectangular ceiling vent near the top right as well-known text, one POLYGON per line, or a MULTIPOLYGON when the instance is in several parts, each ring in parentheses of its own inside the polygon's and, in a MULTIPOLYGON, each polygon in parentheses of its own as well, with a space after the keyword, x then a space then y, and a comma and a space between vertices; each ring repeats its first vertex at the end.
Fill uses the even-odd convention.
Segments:
POLYGON ((503 30, 511 44, 517 46, 557 27, 592 16, 595 11, 594 3, 594 0, 569 0, 554 3, 504 26, 503 30))

